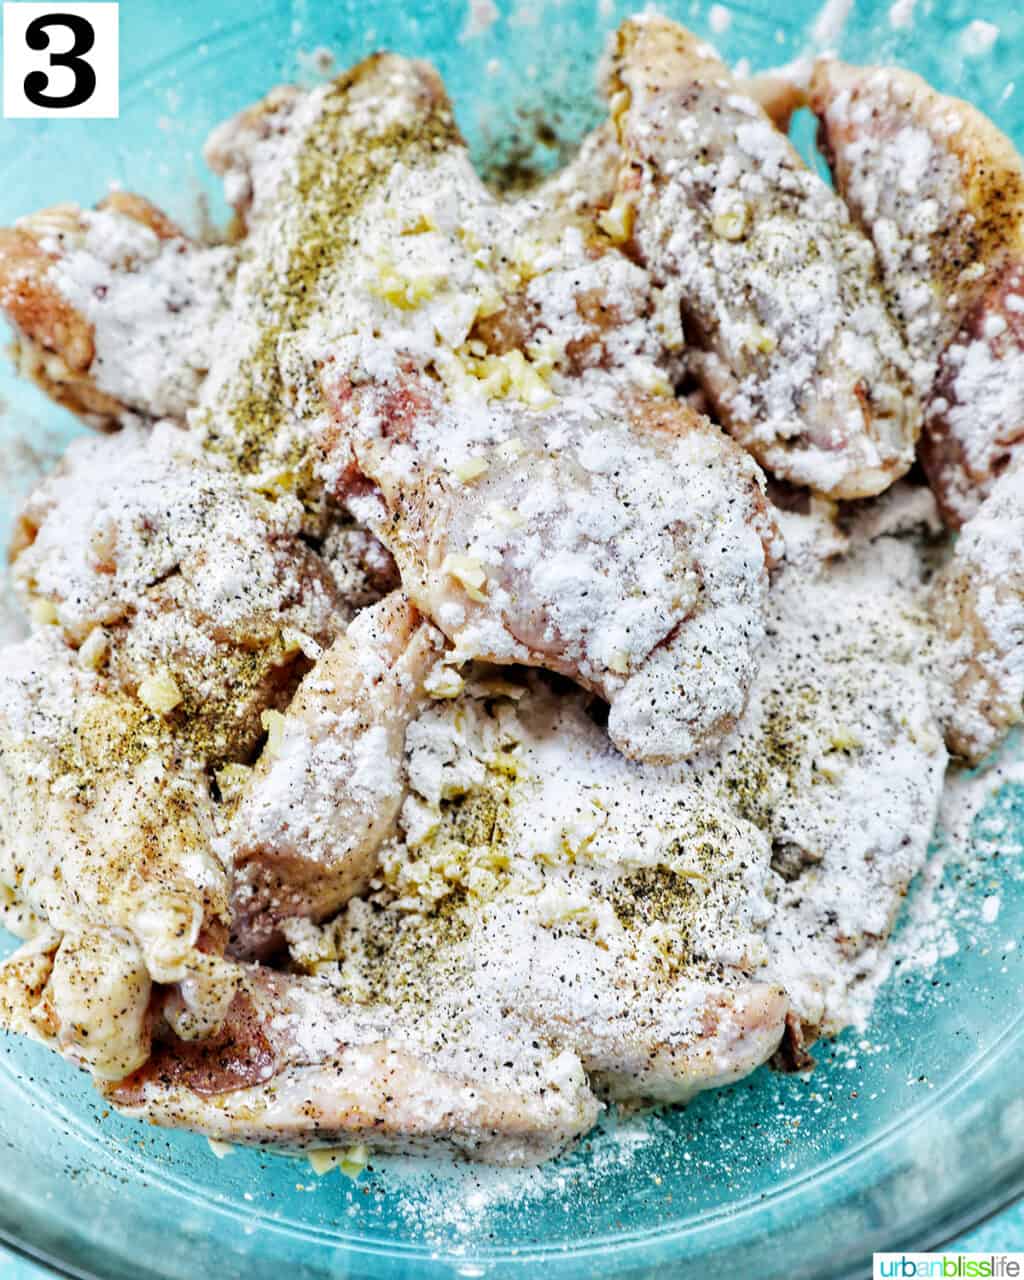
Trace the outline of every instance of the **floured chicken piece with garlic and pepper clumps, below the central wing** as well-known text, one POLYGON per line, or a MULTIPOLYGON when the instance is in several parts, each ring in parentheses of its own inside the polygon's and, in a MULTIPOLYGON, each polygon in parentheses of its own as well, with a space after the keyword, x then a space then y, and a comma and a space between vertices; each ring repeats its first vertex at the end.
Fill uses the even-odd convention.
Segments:
POLYGON ((605 1094, 685 1101, 782 1036, 760 980, 768 841, 699 781, 623 759, 586 708, 471 669, 408 727, 380 892, 319 941, 289 931, 293 954, 412 1037, 486 1043, 503 1015, 605 1094))

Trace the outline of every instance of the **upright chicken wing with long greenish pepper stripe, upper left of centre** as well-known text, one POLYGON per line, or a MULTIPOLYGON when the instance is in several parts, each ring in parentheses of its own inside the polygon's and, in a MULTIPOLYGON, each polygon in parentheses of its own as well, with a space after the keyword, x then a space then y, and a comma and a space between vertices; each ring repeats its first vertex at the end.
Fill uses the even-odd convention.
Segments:
MULTIPOLYGON (((447 193, 445 166, 454 155, 456 166, 471 174, 436 72, 383 54, 332 84, 246 113, 211 145, 214 165, 233 175, 229 195, 244 211, 248 236, 232 334, 214 360, 192 424, 210 449, 260 485, 297 493, 311 527, 321 515, 310 467, 325 410, 317 370, 352 334, 353 273, 374 282, 384 316, 389 307, 401 314, 403 300, 415 307, 384 251, 415 253, 421 238, 433 247, 438 237, 406 198, 403 175, 419 179, 421 192, 447 193), (364 238, 367 210, 372 238, 364 238)), ((475 177, 472 188, 483 189, 475 177)), ((457 220, 457 195, 449 205, 444 216, 457 220)), ((471 265, 472 251, 465 257, 471 265)), ((433 264, 436 273, 420 280, 416 298, 425 303, 420 339, 431 348, 438 339, 430 320, 448 335, 453 323, 445 326, 429 306, 445 265, 433 264)), ((461 311, 468 329, 471 289, 461 311)))

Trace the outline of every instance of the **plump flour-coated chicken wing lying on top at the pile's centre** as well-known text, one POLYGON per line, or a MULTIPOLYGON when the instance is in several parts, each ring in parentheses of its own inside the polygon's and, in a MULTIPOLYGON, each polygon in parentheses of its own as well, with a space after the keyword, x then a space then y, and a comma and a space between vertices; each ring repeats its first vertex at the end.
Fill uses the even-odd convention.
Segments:
POLYGON ((449 399, 412 372, 342 379, 333 399, 325 474, 457 659, 577 680, 636 759, 681 759, 735 723, 776 531, 756 467, 707 420, 663 398, 449 399))

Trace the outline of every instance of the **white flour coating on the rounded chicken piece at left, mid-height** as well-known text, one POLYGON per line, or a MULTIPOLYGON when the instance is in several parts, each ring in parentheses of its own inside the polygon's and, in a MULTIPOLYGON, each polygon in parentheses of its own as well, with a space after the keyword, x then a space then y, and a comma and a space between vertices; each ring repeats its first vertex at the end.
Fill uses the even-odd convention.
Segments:
POLYGON ((77 440, 22 521, 28 545, 14 579, 51 600, 77 641, 137 613, 146 591, 174 572, 191 571, 195 613, 228 628, 251 612, 283 614, 302 594, 298 566, 287 559, 296 504, 248 493, 230 472, 206 466, 174 428, 77 440), (265 561, 256 554, 264 544, 265 561))

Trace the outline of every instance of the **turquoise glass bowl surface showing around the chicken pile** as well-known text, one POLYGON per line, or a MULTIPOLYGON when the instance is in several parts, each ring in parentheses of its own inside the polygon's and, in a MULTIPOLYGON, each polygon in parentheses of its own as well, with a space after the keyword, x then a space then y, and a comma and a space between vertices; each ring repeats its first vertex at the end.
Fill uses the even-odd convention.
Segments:
MULTIPOLYGON (((380 45, 430 56, 477 159, 500 165, 513 156, 502 140, 532 137, 539 119, 570 141, 595 118, 594 68, 631 8, 503 0, 489 31, 462 38, 463 3, 132 0, 120 120, 3 123, 0 223, 92 201, 110 179, 187 221, 204 191, 216 210, 200 157, 207 129, 305 73, 317 46, 342 64, 380 45)), ((708 5, 666 8, 710 36, 708 5)), ((733 5, 714 38, 733 61, 786 61, 808 47, 815 8, 733 5)), ((1015 8, 984 13, 1001 28, 984 56, 965 54, 978 13, 959 0, 918 0, 910 31, 887 5, 860 3, 840 47, 924 72, 1024 142, 1015 8)), ((6 366, 0 397, 6 529, 18 493, 81 428, 6 366)), ((609 1121, 539 1171, 375 1160, 352 1183, 259 1152, 218 1160, 201 1138, 108 1115, 70 1066, 0 1037, 0 1236, 108 1280, 863 1275, 872 1249, 936 1244, 1024 1189, 1024 792, 1005 787, 974 831, 986 861, 948 873, 966 904, 955 954, 927 975, 897 966, 870 1024, 819 1046, 810 1076, 760 1071, 682 1111, 609 1121), (989 920, 979 904, 993 893, 989 920)), ((0 940, 0 954, 12 948, 0 940)))

